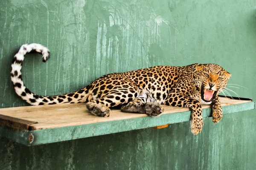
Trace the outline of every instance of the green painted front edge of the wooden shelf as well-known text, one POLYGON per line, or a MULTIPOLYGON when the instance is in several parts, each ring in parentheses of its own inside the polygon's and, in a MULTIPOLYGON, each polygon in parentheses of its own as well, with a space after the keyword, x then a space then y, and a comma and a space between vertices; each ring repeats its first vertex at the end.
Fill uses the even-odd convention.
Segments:
MULTIPOLYGON (((255 109, 255 102, 246 102, 236 105, 223 106, 223 114, 235 113, 255 109)), ((211 108, 203 109, 203 117, 212 116, 211 108)), ((49 144, 73 139, 87 138, 110 133, 125 132, 166 124, 186 122, 190 120, 190 111, 163 114, 154 118, 150 116, 133 119, 115 120, 111 122, 99 122, 87 125, 58 127, 43 130, 13 130, 0 127, 0 136, 26 146, 49 144)))

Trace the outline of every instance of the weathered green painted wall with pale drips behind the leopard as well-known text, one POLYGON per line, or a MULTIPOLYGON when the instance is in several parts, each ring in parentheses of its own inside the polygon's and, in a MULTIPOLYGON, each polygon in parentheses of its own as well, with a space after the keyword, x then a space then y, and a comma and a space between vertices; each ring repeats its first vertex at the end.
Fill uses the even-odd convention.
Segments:
MULTIPOLYGON (((2 0, 0 108, 27 105, 12 88, 20 45, 41 43, 52 57, 29 54, 23 81, 36 94, 76 91, 101 75, 153 65, 217 63, 239 96, 256 98, 256 0, 2 0)), ((235 94, 230 93, 235 96, 235 94)), ((25 147, 0 140, 1 170, 254 170, 255 111, 87 139, 25 147)))

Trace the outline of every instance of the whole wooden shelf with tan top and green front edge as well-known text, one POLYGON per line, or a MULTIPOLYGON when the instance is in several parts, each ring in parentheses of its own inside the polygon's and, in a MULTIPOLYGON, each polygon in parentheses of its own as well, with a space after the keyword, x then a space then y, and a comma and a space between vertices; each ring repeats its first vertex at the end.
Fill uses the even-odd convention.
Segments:
MULTIPOLYGON (((252 100, 220 99, 223 114, 255 108, 252 100)), ((188 108, 163 107, 163 115, 156 118, 145 114, 124 113, 117 109, 111 110, 110 117, 97 117, 87 111, 84 103, 3 108, 0 109, 0 136, 30 146, 168 125, 190 119, 188 108)), ((211 117, 209 106, 203 106, 203 117, 211 117)))

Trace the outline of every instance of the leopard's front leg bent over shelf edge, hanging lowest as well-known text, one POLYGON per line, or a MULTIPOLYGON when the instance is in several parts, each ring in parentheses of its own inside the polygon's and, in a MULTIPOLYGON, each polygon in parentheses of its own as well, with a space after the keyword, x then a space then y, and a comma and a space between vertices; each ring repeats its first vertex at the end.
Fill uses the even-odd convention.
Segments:
POLYGON ((191 132, 195 135, 198 135, 198 133, 202 131, 204 122, 202 116, 202 107, 198 100, 184 94, 172 93, 169 94, 169 97, 166 99, 165 104, 175 107, 189 108, 191 110, 191 132))

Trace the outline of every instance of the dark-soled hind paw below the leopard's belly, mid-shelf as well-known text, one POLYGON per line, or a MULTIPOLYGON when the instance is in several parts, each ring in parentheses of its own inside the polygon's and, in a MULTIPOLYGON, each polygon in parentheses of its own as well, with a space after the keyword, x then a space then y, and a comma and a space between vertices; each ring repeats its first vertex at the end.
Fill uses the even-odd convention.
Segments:
POLYGON ((158 103, 145 103, 145 113, 148 116, 157 117, 160 116, 161 113, 163 113, 164 109, 163 107, 158 103))

